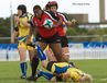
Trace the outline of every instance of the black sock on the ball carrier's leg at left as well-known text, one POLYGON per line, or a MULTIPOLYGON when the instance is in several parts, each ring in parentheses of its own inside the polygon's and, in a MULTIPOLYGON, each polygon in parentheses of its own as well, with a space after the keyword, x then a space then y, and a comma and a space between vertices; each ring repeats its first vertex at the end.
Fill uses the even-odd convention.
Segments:
POLYGON ((31 62, 31 67, 32 67, 32 76, 35 76, 35 72, 36 72, 36 68, 39 66, 39 58, 33 58, 32 62, 31 62))

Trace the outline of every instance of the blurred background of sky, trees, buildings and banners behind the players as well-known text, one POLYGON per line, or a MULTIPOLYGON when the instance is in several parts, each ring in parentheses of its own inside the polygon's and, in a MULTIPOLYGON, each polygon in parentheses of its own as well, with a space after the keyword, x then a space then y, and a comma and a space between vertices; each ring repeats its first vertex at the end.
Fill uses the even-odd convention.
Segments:
MULTIPOLYGON (((35 4, 44 8, 49 1, 0 0, 0 61, 19 61, 17 38, 14 45, 10 44, 17 7, 25 4, 28 12, 33 14, 35 4)), ((58 12, 65 13, 69 21, 77 20, 66 33, 71 59, 107 59, 107 0, 54 1, 58 3, 58 12)))

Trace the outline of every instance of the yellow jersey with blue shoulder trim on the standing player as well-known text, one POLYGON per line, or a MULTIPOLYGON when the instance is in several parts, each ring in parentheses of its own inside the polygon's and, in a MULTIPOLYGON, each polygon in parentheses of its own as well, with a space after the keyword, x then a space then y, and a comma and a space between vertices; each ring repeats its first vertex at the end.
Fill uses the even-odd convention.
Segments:
MULTIPOLYGON (((23 22, 30 22, 31 21, 31 14, 26 13, 24 16, 21 16, 20 20, 23 22)), ((24 26, 22 23, 17 23, 19 28, 19 37, 29 35, 30 27, 24 26)))

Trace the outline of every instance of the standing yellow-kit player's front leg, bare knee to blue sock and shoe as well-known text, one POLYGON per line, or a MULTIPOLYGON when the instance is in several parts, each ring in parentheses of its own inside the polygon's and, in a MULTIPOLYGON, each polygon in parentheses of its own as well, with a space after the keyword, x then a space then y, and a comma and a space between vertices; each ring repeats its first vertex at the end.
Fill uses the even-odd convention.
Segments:
POLYGON ((28 69, 28 63, 26 63, 26 48, 19 47, 19 55, 20 55, 20 67, 22 71, 22 76, 21 79, 26 78, 26 69, 28 69))

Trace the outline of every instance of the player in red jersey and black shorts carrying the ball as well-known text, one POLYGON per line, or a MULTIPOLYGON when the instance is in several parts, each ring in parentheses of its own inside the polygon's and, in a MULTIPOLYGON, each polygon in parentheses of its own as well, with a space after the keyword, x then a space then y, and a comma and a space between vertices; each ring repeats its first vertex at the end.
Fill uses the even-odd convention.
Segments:
MULTIPOLYGON (((33 12, 34 12, 34 16, 32 17, 32 23, 28 24, 31 27, 28 42, 32 33, 34 32, 34 26, 36 26, 36 29, 38 29, 36 42, 39 42, 39 46, 41 47, 41 49, 44 50, 49 44, 57 61, 63 61, 61 37, 56 29, 57 26, 62 24, 62 20, 58 16, 55 16, 53 12, 43 11, 40 5, 34 5, 33 12), (54 25, 51 29, 44 27, 43 23, 45 19, 53 21, 54 25)), ((36 50, 35 50, 35 55, 36 56, 34 57, 39 59, 36 50)), ((38 66, 33 64, 33 68, 36 69, 38 66)), ((35 69, 32 69, 32 71, 35 71, 35 69)), ((33 75, 31 78, 28 78, 29 81, 32 81, 34 79, 35 72, 33 72, 32 74, 33 75)))

